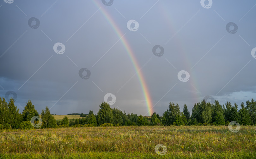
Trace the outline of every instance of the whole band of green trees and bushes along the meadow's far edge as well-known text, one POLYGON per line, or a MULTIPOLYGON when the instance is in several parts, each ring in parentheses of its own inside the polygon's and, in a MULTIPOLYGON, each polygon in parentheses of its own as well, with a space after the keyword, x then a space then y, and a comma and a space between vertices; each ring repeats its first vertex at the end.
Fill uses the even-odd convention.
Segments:
POLYGON ((34 125, 38 128, 56 128, 56 127, 93 127, 93 126, 180 126, 180 125, 228 125, 231 121, 237 121, 241 125, 256 125, 256 101, 246 101, 238 105, 230 102, 221 105, 217 100, 214 103, 202 100, 195 103, 190 113, 186 104, 183 111, 180 112, 178 103, 169 103, 168 109, 159 116, 156 112, 151 117, 137 115, 133 113, 126 114, 120 109, 111 108, 108 103, 102 102, 99 111, 94 115, 90 110, 88 114, 80 114, 82 118, 69 120, 67 116, 61 121, 56 121, 46 106, 39 115, 31 100, 28 100, 26 106, 19 113, 15 106, 13 98, 7 103, 0 97, 0 129, 31 129, 34 125), (40 116, 34 123, 31 119, 34 116, 40 116))

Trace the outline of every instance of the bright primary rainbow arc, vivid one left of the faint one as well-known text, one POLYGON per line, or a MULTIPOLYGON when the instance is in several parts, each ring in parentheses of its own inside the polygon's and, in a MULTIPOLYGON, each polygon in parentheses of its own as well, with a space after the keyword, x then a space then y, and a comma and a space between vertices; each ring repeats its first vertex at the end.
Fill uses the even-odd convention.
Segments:
MULTIPOLYGON (((106 7, 107 6, 102 6, 103 4, 99 3, 98 1, 93 1, 94 4, 100 8, 100 11, 101 13, 104 15, 104 17, 106 18, 106 20, 108 21, 108 23, 112 26, 112 28, 114 29, 114 31, 116 32, 117 36, 119 38, 121 38, 124 34, 122 33, 122 31, 119 29, 118 25, 115 23, 115 21, 113 20, 112 16, 106 11, 106 7)), ((151 116, 151 114, 153 113, 153 104, 152 104, 152 101, 151 101, 151 98, 150 98, 150 95, 149 95, 149 90, 148 90, 148 87, 146 85, 146 81, 143 77, 143 74, 140 70, 140 66, 136 60, 136 57, 133 53, 133 50, 129 44, 129 42, 127 41, 127 39, 125 37, 122 37, 120 39, 120 41, 122 42, 126 52, 128 53, 129 57, 130 57, 130 60, 132 62, 132 65, 135 69, 137 73, 137 76, 138 76, 138 79, 139 79, 139 82, 140 82, 140 85, 141 85, 141 88, 142 88, 142 91, 143 91, 143 95, 144 95, 144 98, 146 100, 146 104, 147 104, 147 108, 148 108, 148 112, 149 113, 149 116, 151 116)))

